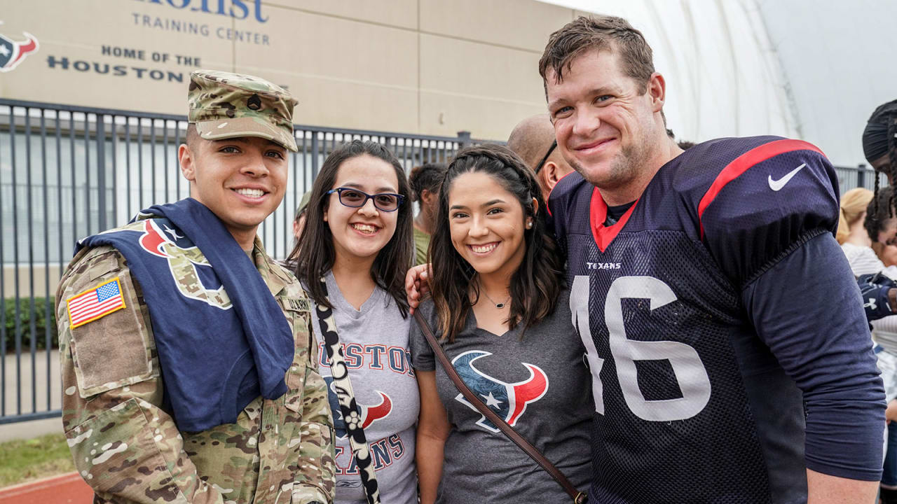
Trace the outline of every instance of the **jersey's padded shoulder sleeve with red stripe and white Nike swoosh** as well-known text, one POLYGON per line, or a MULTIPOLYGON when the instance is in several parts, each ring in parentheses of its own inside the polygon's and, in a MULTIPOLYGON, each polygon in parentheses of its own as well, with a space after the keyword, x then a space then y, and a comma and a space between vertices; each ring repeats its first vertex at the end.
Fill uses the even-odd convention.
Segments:
MULTIPOLYGON (((838 178, 811 143, 776 137, 731 139, 715 177, 692 192, 701 239, 736 285, 838 226, 838 178)), ((697 152, 696 152, 697 153, 697 152)), ((709 178, 709 177, 708 177, 709 178)))

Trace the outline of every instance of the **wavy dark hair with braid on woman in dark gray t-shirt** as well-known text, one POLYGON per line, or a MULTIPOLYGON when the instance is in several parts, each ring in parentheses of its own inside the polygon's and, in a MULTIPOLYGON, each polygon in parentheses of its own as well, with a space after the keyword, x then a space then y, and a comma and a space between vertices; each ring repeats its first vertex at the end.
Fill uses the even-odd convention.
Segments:
POLYGON ((436 229, 433 230, 427 256, 432 265, 430 285, 440 319, 440 332, 449 342, 454 341, 464 328, 467 314, 479 300, 480 291, 477 282, 473 282, 474 267, 452 245, 448 196, 455 178, 478 171, 488 174, 517 197, 523 207, 524 219, 533 220, 533 227, 524 230, 526 255, 518 270, 511 275, 510 328, 522 324, 523 332, 526 332, 527 328, 551 315, 563 288, 562 264, 553 237, 544 229, 541 215, 546 211, 545 203, 533 171, 517 154, 501 145, 486 143, 462 149, 448 165, 442 180, 436 229), (533 198, 538 202, 539 216, 533 208, 533 198), (473 302, 469 294, 471 289, 475 294, 473 302))

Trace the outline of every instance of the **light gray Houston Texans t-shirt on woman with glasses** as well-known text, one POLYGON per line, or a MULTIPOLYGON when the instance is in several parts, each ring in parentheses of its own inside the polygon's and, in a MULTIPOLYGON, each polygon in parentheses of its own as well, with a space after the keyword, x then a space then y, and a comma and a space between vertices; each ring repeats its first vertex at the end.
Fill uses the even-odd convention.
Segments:
MULTIPOLYGON (((361 406, 362 425, 377 475, 380 501, 384 504, 416 503, 414 435, 420 396, 408 349, 411 318, 403 318, 396 301, 379 287, 364 301, 361 309, 355 309, 343 297, 333 274, 327 273, 325 278, 349 379, 355 399, 361 406)), ((332 373, 315 310, 312 314, 318 341, 318 369, 327 386, 332 387, 332 373)), ((358 467, 332 388, 328 399, 336 431, 335 502, 364 504, 358 467)))

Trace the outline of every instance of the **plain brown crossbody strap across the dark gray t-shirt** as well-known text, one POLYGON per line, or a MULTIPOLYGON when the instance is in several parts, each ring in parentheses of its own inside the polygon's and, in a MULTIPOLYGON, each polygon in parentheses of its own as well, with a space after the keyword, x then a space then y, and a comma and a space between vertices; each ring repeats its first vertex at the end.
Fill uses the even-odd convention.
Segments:
POLYGON ((421 331, 427 338, 427 343, 430 343, 430 347, 433 349, 433 353, 436 355, 436 358, 440 360, 442 368, 446 370, 448 378, 452 380, 461 395, 464 395, 467 402, 473 404, 478 412, 483 413, 484 417, 492 421, 492 423, 496 427, 504 432, 505 436, 508 436, 511 441, 514 441, 514 444, 516 444, 518 447, 520 447, 520 449, 526 452, 526 454, 530 458, 535 460, 536 464, 541 465, 546 473, 551 474, 551 476, 554 478, 554 481, 558 482, 558 484, 562 486, 563 490, 566 491, 568 495, 570 495, 570 497, 573 499, 574 504, 585 504, 586 492, 576 490, 573 484, 570 483, 570 480, 568 480, 567 477, 564 476, 557 467, 549 462, 548 459, 545 458, 536 447, 530 444, 527 439, 523 439, 523 437, 518 434, 517 430, 514 430, 513 427, 508 425, 507 421, 502 420, 499 415, 495 414, 495 412, 489 409, 489 406, 483 404, 483 401, 481 401, 480 398, 477 397, 470 390, 470 388, 467 387, 466 383, 464 383, 464 380, 462 380, 461 377, 457 375, 455 367, 451 365, 450 361, 448 361, 448 356, 446 355, 445 351, 442 350, 440 343, 436 341, 436 336, 433 335, 433 331, 431 330, 430 325, 427 324, 427 321, 423 319, 420 310, 414 311, 414 319, 417 321, 417 325, 421 327, 421 331))

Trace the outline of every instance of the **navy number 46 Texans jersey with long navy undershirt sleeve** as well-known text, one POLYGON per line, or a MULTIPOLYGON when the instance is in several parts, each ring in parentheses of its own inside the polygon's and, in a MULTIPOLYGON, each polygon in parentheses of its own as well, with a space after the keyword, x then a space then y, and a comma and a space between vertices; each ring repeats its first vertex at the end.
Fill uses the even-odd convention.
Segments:
MULTIPOLYGON (((809 361, 861 362, 858 389, 872 399, 858 407, 879 418, 884 395, 862 302, 832 237, 837 177, 814 145, 771 136, 701 143, 659 169, 610 226, 597 188, 572 173, 549 210, 593 376, 591 502, 806 502, 815 459, 805 454, 814 412, 804 395, 824 387, 809 361), (770 286, 805 253, 833 261, 824 266, 840 282, 831 303, 848 308, 845 321, 795 337, 790 326, 827 322, 801 317, 813 313, 811 300, 778 300, 782 290, 770 286), (779 302, 781 316, 764 318, 779 302)), ((875 435, 860 437, 871 446, 875 435)), ((818 467, 832 474, 824 457, 818 467)), ((868 474, 844 474, 874 479, 880 461, 858 463, 872 465, 868 474)))

